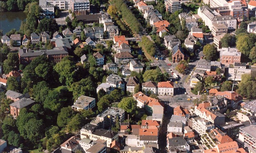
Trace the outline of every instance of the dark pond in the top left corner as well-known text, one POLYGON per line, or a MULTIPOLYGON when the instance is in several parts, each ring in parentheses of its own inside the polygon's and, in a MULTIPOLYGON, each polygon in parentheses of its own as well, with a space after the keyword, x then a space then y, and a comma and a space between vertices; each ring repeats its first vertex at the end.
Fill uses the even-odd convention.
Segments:
POLYGON ((17 31, 20 29, 21 22, 26 19, 27 14, 20 12, 0 12, 0 29, 3 34, 9 32, 12 28, 17 31))

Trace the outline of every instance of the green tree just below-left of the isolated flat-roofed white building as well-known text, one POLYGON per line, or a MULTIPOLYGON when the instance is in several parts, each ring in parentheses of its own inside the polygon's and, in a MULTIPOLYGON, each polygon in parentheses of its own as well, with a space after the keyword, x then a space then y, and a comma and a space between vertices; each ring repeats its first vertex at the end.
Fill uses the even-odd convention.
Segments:
POLYGON ((71 107, 63 107, 57 117, 57 125, 59 127, 65 127, 73 117, 73 110, 71 107))

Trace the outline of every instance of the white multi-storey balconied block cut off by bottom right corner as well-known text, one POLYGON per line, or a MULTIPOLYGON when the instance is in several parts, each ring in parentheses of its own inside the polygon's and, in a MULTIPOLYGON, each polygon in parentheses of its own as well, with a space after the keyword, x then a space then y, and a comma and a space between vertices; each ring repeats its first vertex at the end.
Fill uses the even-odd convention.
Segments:
POLYGON ((244 126, 240 128, 238 142, 240 142, 248 153, 255 153, 255 133, 256 123, 253 123, 249 126, 244 126))

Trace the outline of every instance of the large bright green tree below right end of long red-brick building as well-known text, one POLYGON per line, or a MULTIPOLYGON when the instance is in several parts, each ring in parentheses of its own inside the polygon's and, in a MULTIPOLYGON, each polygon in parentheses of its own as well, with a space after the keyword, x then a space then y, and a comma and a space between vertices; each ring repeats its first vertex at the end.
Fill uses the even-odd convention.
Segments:
POLYGON ((71 86, 75 75, 75 65, 66 56, 62 61, 54 66, 54 70, 59 74, 59 81, 62 84, 71 86))

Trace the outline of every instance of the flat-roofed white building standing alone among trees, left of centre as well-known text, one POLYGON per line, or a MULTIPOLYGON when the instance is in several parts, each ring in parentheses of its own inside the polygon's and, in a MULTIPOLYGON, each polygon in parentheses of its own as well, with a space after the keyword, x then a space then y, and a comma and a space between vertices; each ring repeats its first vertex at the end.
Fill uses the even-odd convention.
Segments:
POLYGON ((85 95, 81 95, 78 97, 74 105, 72 105, 72 109, 78 110, 88 110, 92 109, 95 106, 95 98, 87 97, 85 95))

